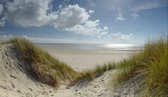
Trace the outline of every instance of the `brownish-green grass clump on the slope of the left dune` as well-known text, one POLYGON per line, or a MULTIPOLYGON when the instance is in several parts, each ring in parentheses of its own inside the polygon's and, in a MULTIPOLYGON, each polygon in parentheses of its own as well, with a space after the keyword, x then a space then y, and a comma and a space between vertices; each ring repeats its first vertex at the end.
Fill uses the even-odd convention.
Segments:
POLYGON ((78 76, 78 72, 54 59, 28 40, 14 38, 10 42, 14 44, 18 58, 27 64, 23 66, 26 67, 24 69, 27 74, 33 78, 51 86, 58 86, 59 83, 71 82, 78 76))

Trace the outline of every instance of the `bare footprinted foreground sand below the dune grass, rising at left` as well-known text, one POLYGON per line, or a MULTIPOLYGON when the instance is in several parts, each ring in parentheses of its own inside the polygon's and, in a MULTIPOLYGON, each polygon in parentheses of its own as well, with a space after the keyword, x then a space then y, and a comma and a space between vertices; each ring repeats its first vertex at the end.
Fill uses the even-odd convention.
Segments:
POLYGON ((17 59, 17 53, 11 47, 12 44, 0 45, 0 97, 133 97, 130 91, 122 94, 109 87, 117 70, 107 71, 89 83, 84 81, 68 88, 61 85, 56 89, 37 82, 26 75, 21 68, 25 65, 17 59))

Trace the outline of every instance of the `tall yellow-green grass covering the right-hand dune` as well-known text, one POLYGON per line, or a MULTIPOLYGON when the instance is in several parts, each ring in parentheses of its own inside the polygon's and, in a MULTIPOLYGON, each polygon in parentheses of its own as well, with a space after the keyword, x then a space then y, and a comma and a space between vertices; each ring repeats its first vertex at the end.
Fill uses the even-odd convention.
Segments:
POLYGON ((118 65, 122 71, 117 76, 119 84, 137 75, 145 79, 145 96, 168 96, 168 37, 145 44, 144 51, 118 65))

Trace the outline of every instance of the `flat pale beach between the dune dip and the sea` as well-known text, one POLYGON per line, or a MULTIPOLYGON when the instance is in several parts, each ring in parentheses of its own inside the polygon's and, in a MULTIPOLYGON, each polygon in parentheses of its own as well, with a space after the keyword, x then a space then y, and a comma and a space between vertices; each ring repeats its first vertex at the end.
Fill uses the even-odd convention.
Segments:
POLYGON ((135 51, 82 51, 43 48, 77 71, 93 69, 97 65, 119 62, 130 57, 135 51))

